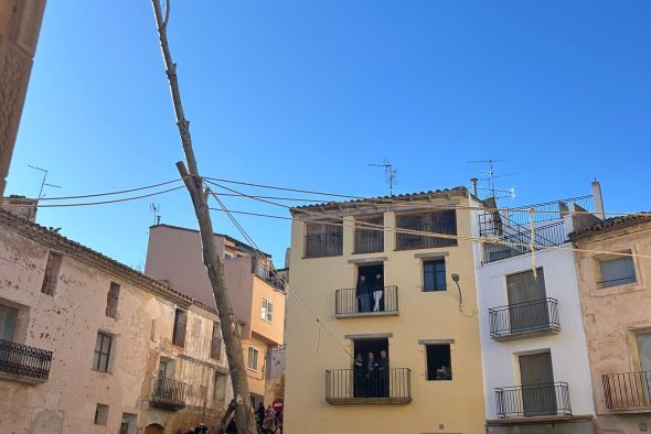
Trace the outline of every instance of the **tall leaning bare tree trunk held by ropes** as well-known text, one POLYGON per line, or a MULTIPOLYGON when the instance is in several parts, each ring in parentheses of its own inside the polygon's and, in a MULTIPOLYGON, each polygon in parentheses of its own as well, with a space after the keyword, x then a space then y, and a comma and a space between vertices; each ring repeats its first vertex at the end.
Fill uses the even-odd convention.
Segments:
POLYGON ((246 377, 246 368, 244 366, 244 351, 242 349, 242 338, 239 335, 239 327, 237 326, 237 318, 231 305, 231 299, 226 291, 224 283, 224 272, 222 261, 217 254, 215 238, 213 232, 213 225, 207 207, 207 200, 203 194, 203 183, 199 175, 194 151, 192 149, 192 137, 190 135, 190 122, 185 119, 183 113, 183 106, 181 104, 181 93, 179 90, 179 80, 177 77, 177 65, 172 61, 170 47, 168 45, 167 24, 169 19, 170 0, 167 0, 166 14, 163 17, 161 11, 160 0, 151 0, 153 4, 153 13, 156 15, 157 30, 160 39, 160 46, 163 55, 163 61, 167 68, 168 80, 170 82, 170 90, 172 93, 172 102, 174 105, 174 112, 177 116, 177 124, 183 144, 183 152, 185 153, 185 161, 188 169, 183 162, 178 162, 177 167, 183 177, 183 182, 188 187, 196 220, 199 223, 199 231, 201 234, 201 242, 203 250, 203 263, 207 270, 207 275, 215 296, 217 313, 220 315, 220 327, 222 329, 222 337, 224 338, 226 347, 226 357, 228 359, 228 368, 231 371, 231 380, 233 383, 233 395, 235 401, 235 423, 237 432, 243 434, 256 434, 255 413, 250 404, 250 395, 248 392, 248 382, 246 377))

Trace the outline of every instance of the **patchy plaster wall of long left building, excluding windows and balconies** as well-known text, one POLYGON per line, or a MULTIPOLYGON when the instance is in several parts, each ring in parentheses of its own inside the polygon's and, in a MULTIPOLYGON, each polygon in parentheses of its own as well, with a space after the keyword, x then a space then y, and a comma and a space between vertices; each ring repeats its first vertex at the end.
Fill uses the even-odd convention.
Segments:
POLYGON ((0 304, 20 308, 14 341, 54 351, 49 381, 30 386, 0 378, 2 433, 116 433, 122 413, 139 426, 158 422, 166 433, 183 424, 215 420, 228 397, 213 397, 215 370, 225 356, 210 358, 216 315, 195 305, 189 312, 186 345, 171 345, 174 297, 166 300, 64 254, 55 294, 41 293, 49 248, 0 224, 0 304), (121 285, 117 317, 105 315, 110 282, 121 285), (97 332, 114 336, 109 372, 92 369, 97 332), (148 409, 159 358, 175 361, 174 378, 190 384, 179 412, 148 409), (207 386, 207 388, 206 388, 207 386), (205 393, 207 391, 207 394, 205 393), (94 425, 97 403, 109 405, 106 426, 94 425), (46 426, 39 431, 38 426, 46 426))

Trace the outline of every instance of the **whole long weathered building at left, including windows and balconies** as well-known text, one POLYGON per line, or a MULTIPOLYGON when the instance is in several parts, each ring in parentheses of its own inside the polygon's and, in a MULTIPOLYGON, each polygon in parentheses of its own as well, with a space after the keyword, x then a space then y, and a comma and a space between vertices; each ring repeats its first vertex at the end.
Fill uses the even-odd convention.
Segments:
POLYGON ((2 433, 177 433, 232 397, 215 311, 0 209, 2 433))

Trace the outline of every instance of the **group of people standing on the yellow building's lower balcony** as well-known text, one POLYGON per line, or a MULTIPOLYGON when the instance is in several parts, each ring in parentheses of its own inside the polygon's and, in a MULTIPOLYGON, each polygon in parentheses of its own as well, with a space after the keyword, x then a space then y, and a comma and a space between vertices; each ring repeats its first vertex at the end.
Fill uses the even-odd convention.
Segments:
POLYGON ((355 398, 388 398, 388 356, 380 351, 375 358, 369 352, 366 359, 359 352, 353 364, 353 393, 355 398))

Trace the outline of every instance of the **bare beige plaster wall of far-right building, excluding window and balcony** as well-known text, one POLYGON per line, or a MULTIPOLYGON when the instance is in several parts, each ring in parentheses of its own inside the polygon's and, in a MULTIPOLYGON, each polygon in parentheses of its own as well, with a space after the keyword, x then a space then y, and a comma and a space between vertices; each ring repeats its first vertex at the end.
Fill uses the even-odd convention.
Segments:
MULTIPOLYGON (((579 239, 576 246, 586 250, 651 252, 651 223, 613 231, 597 231, 579 239)), ((588 357, 601 433, 636 433, 640 423, 651 428, 651 414, 616 415, 606 408, 601 376, 639 371, 636 332, 651 330, 651 260, 633 259, 637 282, 598 289, 598 253, 577 252, 577 273, 588 357)))

